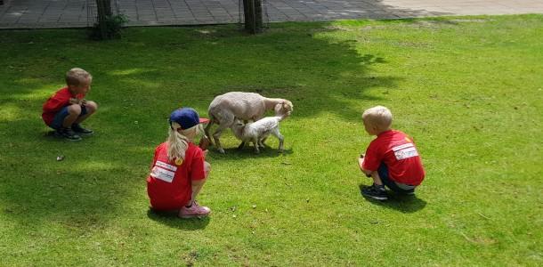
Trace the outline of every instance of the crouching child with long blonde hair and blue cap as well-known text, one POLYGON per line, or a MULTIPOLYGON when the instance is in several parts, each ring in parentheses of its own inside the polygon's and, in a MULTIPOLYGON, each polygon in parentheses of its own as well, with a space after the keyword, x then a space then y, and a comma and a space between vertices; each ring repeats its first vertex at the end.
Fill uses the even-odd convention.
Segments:
POLYGON ((178 210, 181 218, 206 216, 207 206, 199 206, 196 197, 207 181, 211 169, 205 161, 207 150, 195 145, 194 138, 203 133, 194 109, 176 109, 170 115, 169 136, 155 150, 147 193, 156 210, 178 210))

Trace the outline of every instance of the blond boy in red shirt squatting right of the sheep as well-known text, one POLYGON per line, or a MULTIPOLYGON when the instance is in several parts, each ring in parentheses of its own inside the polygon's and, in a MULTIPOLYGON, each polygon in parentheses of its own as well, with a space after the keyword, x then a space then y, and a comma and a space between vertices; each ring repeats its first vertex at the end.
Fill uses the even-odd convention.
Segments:
POLYGON ((425 170, 413 140, 391 129, 393 115, 383 106, 366 109, 362 121, 368 134, 377 135, 359 158, 361 171, 373 179, 373 185, 362 190, 362 195, 386 200, 385 186, 400 194, 414 194, 425 178, 425 170))

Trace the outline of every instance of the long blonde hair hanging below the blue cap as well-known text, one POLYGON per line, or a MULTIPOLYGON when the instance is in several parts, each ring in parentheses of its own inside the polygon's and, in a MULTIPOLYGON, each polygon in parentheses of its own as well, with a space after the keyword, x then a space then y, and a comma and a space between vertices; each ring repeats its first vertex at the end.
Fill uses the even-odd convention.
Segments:
POLYGON ((203 133, 201 125, 194 125, 189 129, 181 130, 181 133, 178 129, 181 128, 176 122, 172 122, 172 125, 168 131, 167 142, 167 155, 169 160, 174 160, 175 158, 185 159, 185 151, 189 148, 189 142, 192 140, 187 137, 188 134, 192 131, 196 131, 196 134, 203 133))

